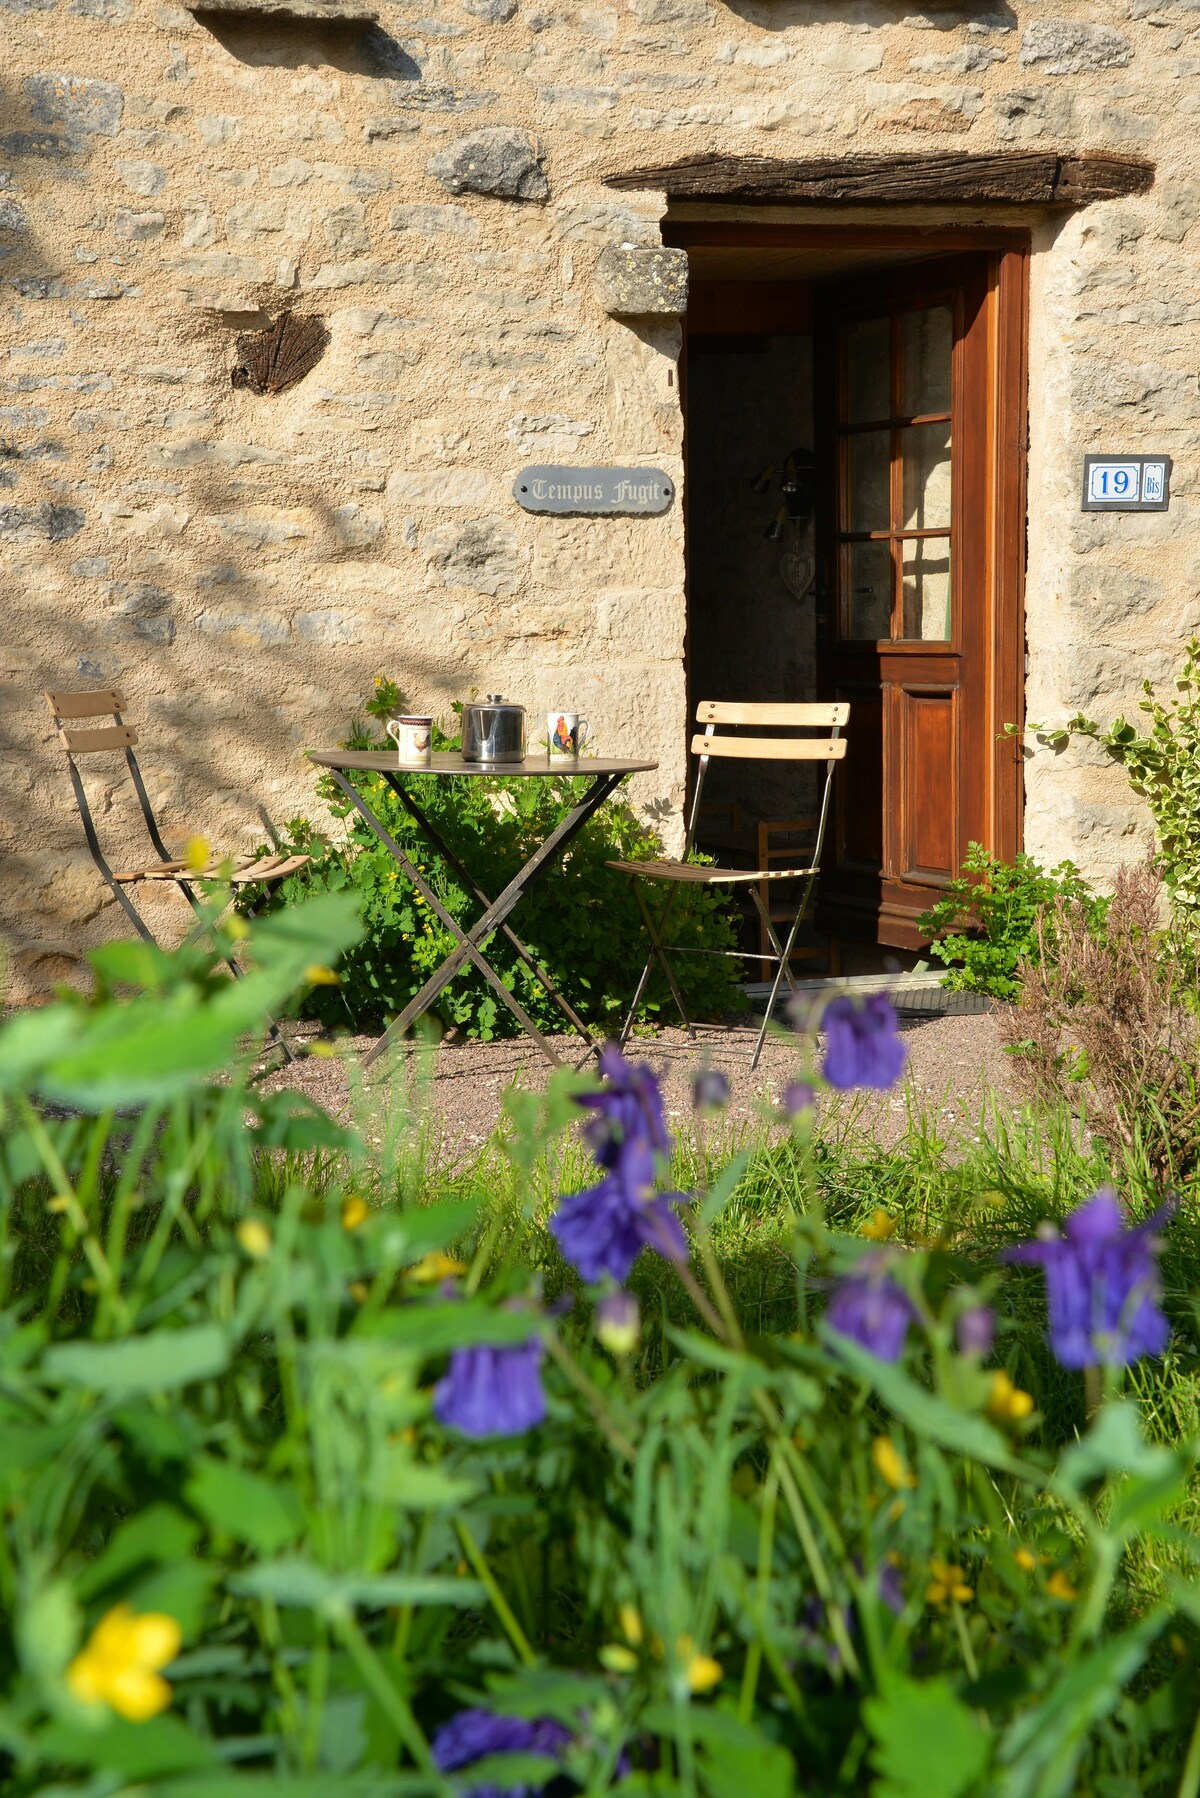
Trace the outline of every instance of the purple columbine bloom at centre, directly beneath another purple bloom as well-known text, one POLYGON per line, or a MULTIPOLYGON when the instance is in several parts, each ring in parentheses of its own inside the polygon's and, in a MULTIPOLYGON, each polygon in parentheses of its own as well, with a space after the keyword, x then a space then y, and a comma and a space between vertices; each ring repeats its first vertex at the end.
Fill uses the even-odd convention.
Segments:
POLYGON ((671 1210, 682 1192, 655 1192, 655 1156, 646 1142, 626 1142, 599 1187, 560 1199, 551 1232, 585 1280, 624 1282, 644 1248, 687 1260, 687 1237, 671 1210))

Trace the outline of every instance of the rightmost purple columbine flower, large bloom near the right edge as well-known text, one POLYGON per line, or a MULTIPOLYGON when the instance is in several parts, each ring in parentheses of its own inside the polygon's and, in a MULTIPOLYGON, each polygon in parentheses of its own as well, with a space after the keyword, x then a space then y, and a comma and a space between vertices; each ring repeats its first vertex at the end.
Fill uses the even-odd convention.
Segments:
POLYGON ((1171 1325, 1159 1300, 1159 1241, 1169 1215, 1162 1206, 1146 1223, 1124 1228, 1112 1187, 1070 1212, 1060 1235, 1004 1251, 1004 1260, 1036 1260, 1045 1275, 1049 1340, 1061 1366, 1128 1366, 1162 1354, 1171 1325))

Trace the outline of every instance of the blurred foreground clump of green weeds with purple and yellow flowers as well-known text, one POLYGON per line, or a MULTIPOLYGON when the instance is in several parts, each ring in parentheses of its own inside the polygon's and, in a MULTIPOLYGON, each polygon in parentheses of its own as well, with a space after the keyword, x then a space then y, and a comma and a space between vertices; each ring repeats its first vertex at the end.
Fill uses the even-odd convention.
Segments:
POLYGON ((1191 1352, 1178 1223, 1099 1194, 1009 1259, 831 1230, 815 1120, 903 1063, 885 1000, 838 1000, 770 1120, 763 1334, 716 1246, 747 1156, 676 1190, 612 1048, 511 1095, 518 1226, 261 1097, 254 1009, 353 939, 284 917, 236 987, 122 946, 131 1000, 0 1030, 5 1793, 1195 1798, 1195 1444, 1123 1395, 1191 1352), (543 1217, 579 1126, 594 1178, 543 1217))

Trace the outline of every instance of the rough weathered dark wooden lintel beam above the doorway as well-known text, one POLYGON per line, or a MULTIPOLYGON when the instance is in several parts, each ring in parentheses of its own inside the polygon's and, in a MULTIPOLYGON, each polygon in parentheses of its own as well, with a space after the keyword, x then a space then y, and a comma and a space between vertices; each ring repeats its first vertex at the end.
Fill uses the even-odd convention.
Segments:
POLYGON ((1094 200, 1144 194, 1155 165, 1137 156, 1043 151, 963 156, 694 156, 660 167, 622 169, 606 187, 653 187, 669 200, 808 200, 817 205, 1042 205, 1085 207, 1094 200))

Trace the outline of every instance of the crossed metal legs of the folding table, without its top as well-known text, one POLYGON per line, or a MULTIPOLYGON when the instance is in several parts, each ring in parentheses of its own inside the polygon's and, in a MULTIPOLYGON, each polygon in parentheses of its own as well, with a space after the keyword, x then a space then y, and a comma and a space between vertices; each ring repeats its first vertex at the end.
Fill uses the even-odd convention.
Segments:
POLYGON ((561 850, 567 847, 567 843, 570 843, 574 836, 578 836, 578 832, 588 822, 592 813, 599 806, 603 806, 612 793, 615 793, 615 789, 624 780, 624 771, 596 775, 587 793, 578 802, 578 806, 574 806, 561 820, 561 823, 558 823, 556 829, 551 831, 547 840, 534 850, 534 854, 529 858, 520 874, 513 876, 513 879, 507 883, 507 886, 497 899, 489 899, 488 894, 477 885, 477 881, 471 879, 471 876, 459 861, 459 858, 453 854, 452 849, 446 847, 439 832, 434 829, 425 813, 419 809, 412 795, 405 791, 405 786, 399 780, 399 777, 390 770, 383 773, 383 779, 396 793, 399 804, 405 807, 405 811, 414 820, 423 836, 434 845, 437 854, 444 858, 448 867, 453 868, 459 879, 466 885, 468 892, 471 892, 475 899, 479 899, 479 903, 484 906, 482 915, 475 921, 475 924, 471 924, 468 931, 464 931, 459 921, 450 915, 450 912, 444 908, 437 894, 432 890, 428 881, 423 879, 421 872, 412 865, 412 861, 399 847, 396 838, 390 834, 390 831, 383 823, 380 823, 380 820, 374 816, 374 813, 367 806, 358 788, 345 779, 340 768, 331 768, 329 773, 342 788, 345 797, 351 800, 351 804, 363 818, 363 822, 380 838, 380 841, 392 856, 396 865, 403 870, 407 879, 412 881, 412 885, 421 894, 428 908, 441 919, 441 922, 457 939, 459 944, 459 948, 446 957, 441 967, 434 975, 430 975, 421 991, 408 1000, 399 1018, 396 1018, 394 1023, 387 1027, 380 1041, 363 1055, 363 1066, 365 1068, 371 1066, 371 1063, 376 1061, 387 1050, 389 1043, 392 1043, 394 1037, 405 1036, 405 1032, 412 1028, 417 1018, 425 1016, 425 1012, 430 1009, 430 1005, 443 991, 443 987, 446 987, 453 980, 462 964, 468 960, 473 962, 475 967, 479 967, 480 975, 484 976, 484 980, 488 980, 493 992, 507 1005, 507 1009, 513 1012, 525 1036, 529 1036, 538 1045, 547 1061, 554 1063, 554 1066, 558 1068, 563 1066, 561 1055, 556 1054, 552 1045, 538 1030, 536 1023, 533 1021, 525 1007, 515 998, 513 992, 509 992, 509 989, 497 975, 495 967, 491 967, 491 964, 482 953, 480 944, 486 942, 486 939, 491 937, 493 931, 497 930, 504 931, 507 940, 520 955, 522 962, 525 962, 525 966, 536 975, 536 978, 545 987, 547 994, 554 1000, 558 1009, 569 1019, 572 1030, 576 1030, 576 1034, 581 1036, 583 1041, 587 1043, 588 1054, 592 1054, 597 1046, 596 1039, 592 1037, 592 1032, 583 1023, 579 1014, 572 1009, 572 1005, 569 1005, 569 1001, 558 991, 558 987, 545 973, 545 969, 540 967, 540 964, 534 960, 533 953, 520 940, 516 931, 509 928, 507 917, 513 906, 516 906, 522 901, 522 897, 529 892, 534 881, 538 881, 542 874, 545 874, 549 863, 561 854, 561 850))

